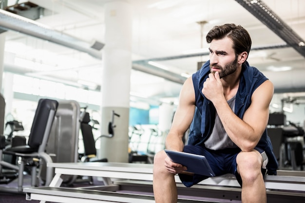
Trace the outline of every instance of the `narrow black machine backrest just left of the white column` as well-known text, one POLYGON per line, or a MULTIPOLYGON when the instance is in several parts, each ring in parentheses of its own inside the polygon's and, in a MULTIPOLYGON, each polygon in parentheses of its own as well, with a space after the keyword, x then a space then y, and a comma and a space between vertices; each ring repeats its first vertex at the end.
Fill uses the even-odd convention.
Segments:
POLYGON ((90 115, 85 112, 80 123, 81 134, 84 142, 84 155, 96 155, 95 140, 92 132, 92 126, 89 124, 90 115))

